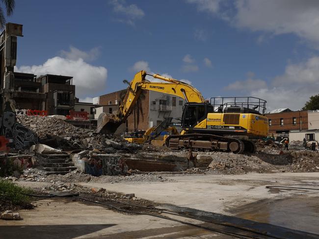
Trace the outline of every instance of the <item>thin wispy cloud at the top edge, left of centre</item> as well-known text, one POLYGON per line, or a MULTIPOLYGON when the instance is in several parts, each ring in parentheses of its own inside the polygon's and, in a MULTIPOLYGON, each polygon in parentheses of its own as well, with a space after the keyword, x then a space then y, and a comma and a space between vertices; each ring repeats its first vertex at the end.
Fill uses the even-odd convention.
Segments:
POLYGON ((124 18, 118 19, 119 22, 134 25, 134 21, 144 17, 144 11, 136 4, 127 4, 125 0, 110 0, 113 11, 122 15, 124 18))

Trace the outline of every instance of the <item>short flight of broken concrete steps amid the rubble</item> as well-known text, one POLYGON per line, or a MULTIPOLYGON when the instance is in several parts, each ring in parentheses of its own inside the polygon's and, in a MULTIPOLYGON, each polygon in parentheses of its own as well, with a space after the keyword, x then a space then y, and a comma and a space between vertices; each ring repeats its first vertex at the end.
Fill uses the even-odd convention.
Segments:
POLYGON ((65 162, 67 159, 70 159, 68 154, 46 154, 46 162, 42 164, 43 169, 47 171, 47 174, 67 174, 70 171, 77 169, 74 167, 72 161, 65 162))

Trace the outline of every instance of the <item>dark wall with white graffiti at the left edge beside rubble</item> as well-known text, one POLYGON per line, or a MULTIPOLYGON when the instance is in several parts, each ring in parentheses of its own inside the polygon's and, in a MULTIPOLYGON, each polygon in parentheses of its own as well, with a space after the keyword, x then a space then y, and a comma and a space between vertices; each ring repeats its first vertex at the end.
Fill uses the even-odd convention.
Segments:
POLYGON ((5 109, 1 120, 2 135, 9 140, 8 146, 11 148, 29 148, 31 145, 38 143, 38 137, 33 131, 17 122, 16 113, 12 110, 13 108, 10 102, 5 102, 5 109))

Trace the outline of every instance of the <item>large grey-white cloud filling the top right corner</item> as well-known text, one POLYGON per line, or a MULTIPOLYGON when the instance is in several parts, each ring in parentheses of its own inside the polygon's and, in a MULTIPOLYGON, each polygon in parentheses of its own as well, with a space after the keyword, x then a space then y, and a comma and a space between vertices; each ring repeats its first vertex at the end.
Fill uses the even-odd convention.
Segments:
POLYGON ((237 28, 262 31, 271 35, 292 33, 319 48, 318 0, 235 0, 225 11, 220 0, 187 0, 198 11, 209 12, 237 28), (230 7, 231 6, 231 7, 230 7))

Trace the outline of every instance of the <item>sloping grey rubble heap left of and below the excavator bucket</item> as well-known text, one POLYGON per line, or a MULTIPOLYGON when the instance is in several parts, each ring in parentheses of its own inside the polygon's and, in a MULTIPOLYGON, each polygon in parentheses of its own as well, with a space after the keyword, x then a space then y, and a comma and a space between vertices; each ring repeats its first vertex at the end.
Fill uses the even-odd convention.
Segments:
POLYGON ((17 120, 30 128, 39 137, 39 142, 62 150, 96 149, 100 152, 114 150, 135 151, 140 145, 107 140, 105 135, 95 130, 79 128, 54 117, 17 116, 17 120))

